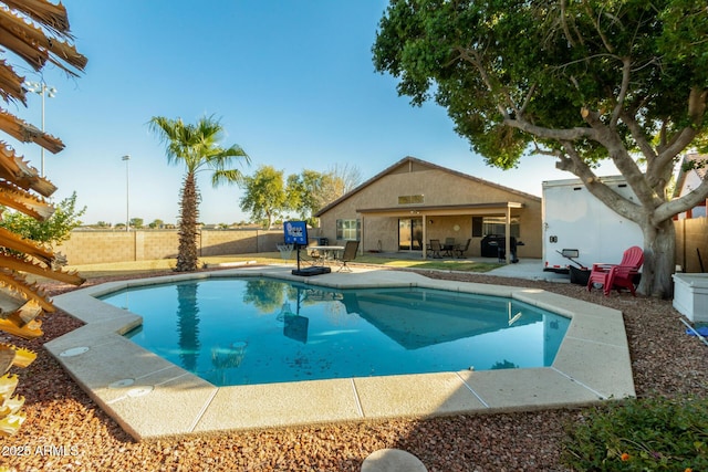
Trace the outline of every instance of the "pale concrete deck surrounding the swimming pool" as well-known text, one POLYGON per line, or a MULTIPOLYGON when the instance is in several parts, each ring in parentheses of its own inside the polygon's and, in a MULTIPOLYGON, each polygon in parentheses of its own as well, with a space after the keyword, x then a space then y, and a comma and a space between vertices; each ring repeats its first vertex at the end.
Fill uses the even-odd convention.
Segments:
POLYGON ((622 313, 538 289, 433 280, 376 269, 311 277, 272 265, 108 282, 54 297, 86 323, 45 344, 137 440, 296 424, 532 410, 634 397, 622 313), (551 367, 216 387, 124 336, 142 318, 95 296, 188 279, 274 276, 333 289, 418 286, 512 297, 571 318, 551 367))

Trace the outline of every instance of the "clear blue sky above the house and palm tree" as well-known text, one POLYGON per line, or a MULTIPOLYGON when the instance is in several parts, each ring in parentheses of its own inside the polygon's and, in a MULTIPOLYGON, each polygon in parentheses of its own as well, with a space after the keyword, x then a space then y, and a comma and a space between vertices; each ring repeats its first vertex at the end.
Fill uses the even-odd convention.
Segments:
MULTIPOLYGON (((76 191, 85 223, 175 222, 184 168, 168 166, 149 133, 153 116, 221 119, 223 145, 285 176, 355 166, 368 179, 405 156, 541 195, 541 181, 573 178, 533 157, 511 171, 488 167, 455 134, 445 109, 413 107, 396 81, 374 72, 371 48, 384 0, 63 0, 75 44, 88 57, 73 80, 48 67, 58 90, 45 98, 45 129, 66 148, 45 153, 54 199, 76 191)), ((19 64, 17 61, 13 62, 19 64)), ((28 81, 42 77, 27 71, 28 81)), ((12 113, 41 123, 41 98, 12 113)), ((40 168, 40 149, 8 141, 40 168)), ((606 174, 606 172, 605 172, 606 174)), ((612 174, 612 172, 610 172, 612 174)), ((602 174, 601 174, 602 175, 602 174)), ((214 190, 204 174, 200 220, 248 220, 235 186, 214 190)))

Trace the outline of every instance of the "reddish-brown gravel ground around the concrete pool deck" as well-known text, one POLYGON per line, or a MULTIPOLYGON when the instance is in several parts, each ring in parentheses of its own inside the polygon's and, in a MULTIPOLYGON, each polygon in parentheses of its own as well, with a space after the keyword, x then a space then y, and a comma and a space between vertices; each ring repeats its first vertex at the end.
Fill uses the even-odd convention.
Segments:
MULTIPOLYGON (((708 347, 685 334, 670 301, 604 297, 577 285, 479 274, 428 275, 541 287, 621 310, 637 396, 706 396, 708 347)), ((45 286, 50 294, 66 290, 45 286)), ((27 421, 18 434, 0 440, 0 471, 2 465, 10 471, 360 471, 368 454, 384 448, 415 454, 430 472, 561 471, 564 426, 582 415, 572 409, 461 415, 136 442, 42 348, 79 325, 59 312, 45 316, 41 339, 0 335, 39 353, 30 367, 17 370, 27 421)))

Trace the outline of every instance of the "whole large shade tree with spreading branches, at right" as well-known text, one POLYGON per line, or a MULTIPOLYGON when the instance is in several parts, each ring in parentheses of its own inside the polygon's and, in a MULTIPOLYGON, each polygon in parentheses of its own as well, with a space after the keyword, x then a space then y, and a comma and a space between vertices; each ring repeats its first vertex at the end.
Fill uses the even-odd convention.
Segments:
POLYGON ((553 156, 636 222, 639 292, 670 295, 671 218, 708 196, 708 181, 676 200, 667 192, 679 154, 706 145, 705 1, 392 0, 373 53, 399 94, 446 107, 489 164, 553 156), (603 185, 594 170, 603 159, 635 201, 603 185))

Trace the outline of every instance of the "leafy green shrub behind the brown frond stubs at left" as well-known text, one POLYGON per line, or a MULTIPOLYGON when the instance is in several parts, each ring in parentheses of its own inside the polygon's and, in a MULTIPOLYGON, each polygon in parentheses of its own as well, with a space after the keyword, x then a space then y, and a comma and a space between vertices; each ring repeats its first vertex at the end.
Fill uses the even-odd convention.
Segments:
POLYGON ((81 225, 86 207, 76 210, 76 192, 54 206, 54 213, 45 221, 38 221, 18 211, 3 212, 0 227, 21 237, 46 244, 59 244, 71 237, 71 231, 81 225))

